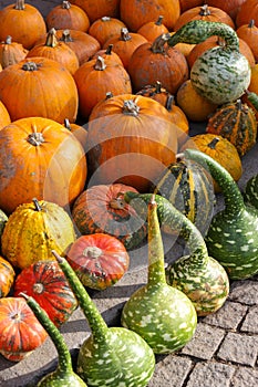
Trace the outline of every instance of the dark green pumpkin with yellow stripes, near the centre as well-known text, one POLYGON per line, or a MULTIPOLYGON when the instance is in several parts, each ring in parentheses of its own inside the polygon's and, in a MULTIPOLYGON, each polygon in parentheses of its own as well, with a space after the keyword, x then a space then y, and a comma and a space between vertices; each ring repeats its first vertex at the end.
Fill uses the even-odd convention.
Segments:
MULTIPOLYGON (((214 213, 215 194, 213 180, 202 165, 189 160, 171 164, 152 192, 166 198, 203 234, 207 231, 214 213)), ((165 227, 163 229, 166 231, 165 227)))

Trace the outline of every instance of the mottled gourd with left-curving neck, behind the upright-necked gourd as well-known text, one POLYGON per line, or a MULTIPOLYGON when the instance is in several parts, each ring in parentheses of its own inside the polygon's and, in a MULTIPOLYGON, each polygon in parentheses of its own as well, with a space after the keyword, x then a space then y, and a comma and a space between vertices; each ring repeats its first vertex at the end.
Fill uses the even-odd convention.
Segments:
MULTIPOLYGON (((144 218, 149 194, 126 192, 125 200, 144 218)), ((177 231, 187 243, 189 254, 166 268, 167 283, 184 292, 199 316, 216 312, 225 303, 229 281, 225 269, 211 257, 199 230, 167 199, 156 195, 158 221, 171 231, 177 231)))

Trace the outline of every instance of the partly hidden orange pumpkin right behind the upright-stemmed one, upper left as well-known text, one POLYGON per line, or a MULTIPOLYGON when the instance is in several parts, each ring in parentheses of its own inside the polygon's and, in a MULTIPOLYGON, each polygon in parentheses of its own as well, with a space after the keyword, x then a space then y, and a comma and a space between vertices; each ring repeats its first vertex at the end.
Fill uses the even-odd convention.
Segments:
POLYGON ((58 30, 56 38, 75 52, 80 65, 87 62, 89 59, 101 49, 99 41, 83 31, 58 30))

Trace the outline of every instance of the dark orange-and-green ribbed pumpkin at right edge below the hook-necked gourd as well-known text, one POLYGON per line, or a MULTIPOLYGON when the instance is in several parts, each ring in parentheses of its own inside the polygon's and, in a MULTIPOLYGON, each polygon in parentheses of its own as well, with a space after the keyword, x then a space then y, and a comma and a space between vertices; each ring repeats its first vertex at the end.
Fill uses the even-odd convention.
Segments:
POLYGON ((256 144, 255 113, 240 100, 226 104, 208 119, 206 132, 227 138, 235 145, 239 156, 244 156, 256 144))

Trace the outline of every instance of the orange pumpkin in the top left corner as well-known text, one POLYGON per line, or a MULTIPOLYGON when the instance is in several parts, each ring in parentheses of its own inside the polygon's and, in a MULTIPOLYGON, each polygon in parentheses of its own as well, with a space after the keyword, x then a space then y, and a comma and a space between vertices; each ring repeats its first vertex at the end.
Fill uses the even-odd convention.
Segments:
POLYGON ((40 11, 31 4, 25 4, 24 0, 17 0, 16 3, 2 8, 0 25, 0 41, 11 35, 14 42, 21 43, 28 50, 47 32, 40 11))

